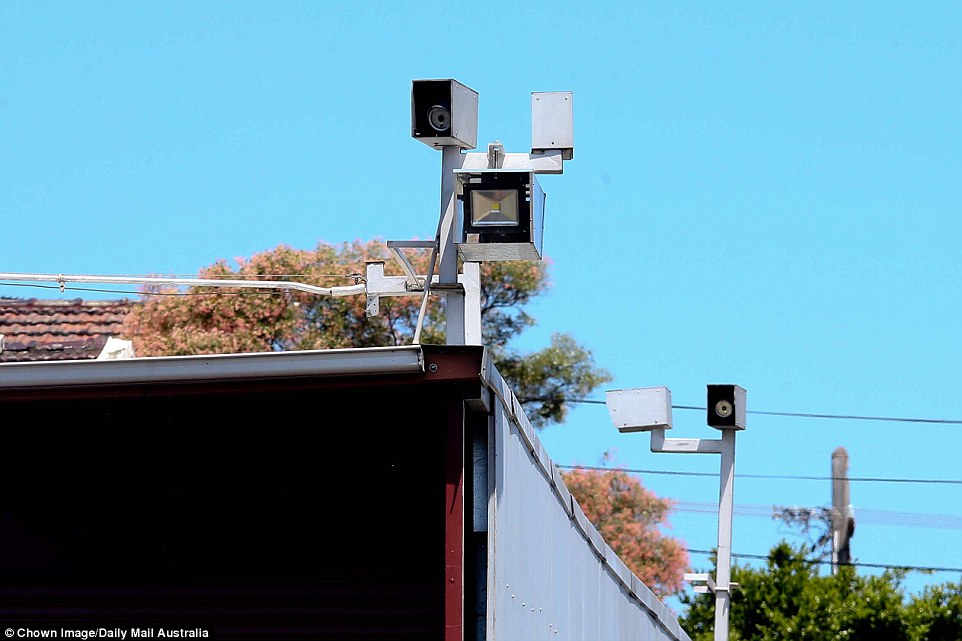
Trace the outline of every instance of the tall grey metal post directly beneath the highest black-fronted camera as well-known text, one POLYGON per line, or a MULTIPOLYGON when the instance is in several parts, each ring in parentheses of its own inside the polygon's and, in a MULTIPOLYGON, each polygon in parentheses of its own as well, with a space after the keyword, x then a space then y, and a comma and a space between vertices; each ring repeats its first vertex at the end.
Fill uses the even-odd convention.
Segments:
MULTIPOLYGON (((441 285, 458 284, 457 194, 454 170, 461 166, 461 148, 445 145, 441 148, 441 224, 439 244, 441 259, 438 266, 438 282, 441 285)), ((445 332, 448 345, 464 345, 464 293, 448 290, 445 295, 445 332)))

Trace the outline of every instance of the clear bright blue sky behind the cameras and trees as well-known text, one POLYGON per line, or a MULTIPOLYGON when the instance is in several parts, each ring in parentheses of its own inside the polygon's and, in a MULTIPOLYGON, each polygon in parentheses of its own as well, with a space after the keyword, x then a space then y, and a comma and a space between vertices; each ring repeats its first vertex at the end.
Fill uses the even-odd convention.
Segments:
MULTIPOLYGON (((509 152, 530 92, 572 91, 574 159, 540 180, 553 286, 519 347, 570 333, 606 389, 678 405, 737 383, 750 410, 960 420, 960 33, 956 2, 4 2, 0 271, 429 238, 441 155, 410 137, 411 81, 478 91, 479 148, 509 152)), ((675 412, 670 436, 716 435, 675 412)), ((718 470, 601 404, 542 437, 559 464, 718 470)), ((803 540, 770 509, 830 505, 839 446, 853 477, 956 481, 853 482, 856 561, 962 568, 958 424, 750 414, 736 554, 803 540)), ((694 510, 717 478, 642 478, 679 501, 673 535, 715 545, 694 510)))

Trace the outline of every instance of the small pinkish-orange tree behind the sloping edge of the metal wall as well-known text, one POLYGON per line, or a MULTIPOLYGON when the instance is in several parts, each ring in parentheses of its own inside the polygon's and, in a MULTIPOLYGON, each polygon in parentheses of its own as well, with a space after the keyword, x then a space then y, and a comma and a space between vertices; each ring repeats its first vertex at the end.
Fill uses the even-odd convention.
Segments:
POLYGON ((664 597, 681 590, 688 552, 659 529, 668 525, 671 501, 619 470, 575 468, 562 476, 588 520, 652 592, 664 597))

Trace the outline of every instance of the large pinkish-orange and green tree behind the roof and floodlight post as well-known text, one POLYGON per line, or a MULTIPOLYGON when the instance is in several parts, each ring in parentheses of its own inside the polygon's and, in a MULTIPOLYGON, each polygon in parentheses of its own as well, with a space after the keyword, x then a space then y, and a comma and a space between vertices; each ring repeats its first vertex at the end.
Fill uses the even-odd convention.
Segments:
MULTIPOLYGON (((428 256, 411 262, 427 273, 428 256)), ((314 250, 279 246, 240 258, 221 260, 200 271, 202 278, 293 280, 321 287, 359 281, 365 262, 382 260, 385 272, 400 274, 387 261, 383 243, 321 243, 314 250)), ((510 342, 534 319, 524 306, 548 288, 544 263, 508 261, 482 264, 482 332, 485 345, 519 397, 536 427, 561 422, 566 399, 583 398, 610 380, 591 352, 565 334, 534 354, 522 354, 510 342)), ((375 347, 409 343, 417 324, 417 295, 381 299, 381 313, 368 318, 363 296, 325 297, 298 291, 223 290, 192 287, 186 296, 176 288, 154 287, 127 316, 126 334, 142 356, 215 354, 270 350, 375 347)), ((444 307, 432 297, 423 343, 444 342, 444 307)))

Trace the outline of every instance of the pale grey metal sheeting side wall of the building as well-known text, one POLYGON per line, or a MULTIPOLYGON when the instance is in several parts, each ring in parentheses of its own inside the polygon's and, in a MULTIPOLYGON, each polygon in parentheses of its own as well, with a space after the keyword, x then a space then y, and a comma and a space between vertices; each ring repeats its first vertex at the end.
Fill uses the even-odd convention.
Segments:
POLYGON ((584 517, 496 369, 489 641, 689 641, 584 517), (566 504, 565 501, 568 501, 566 504))

